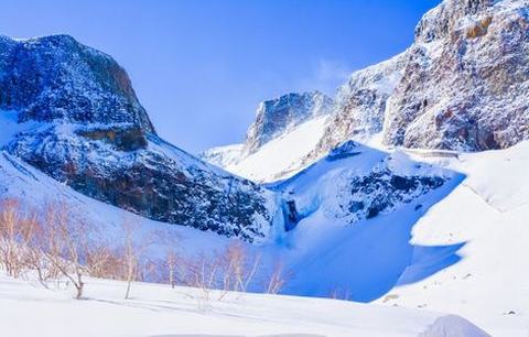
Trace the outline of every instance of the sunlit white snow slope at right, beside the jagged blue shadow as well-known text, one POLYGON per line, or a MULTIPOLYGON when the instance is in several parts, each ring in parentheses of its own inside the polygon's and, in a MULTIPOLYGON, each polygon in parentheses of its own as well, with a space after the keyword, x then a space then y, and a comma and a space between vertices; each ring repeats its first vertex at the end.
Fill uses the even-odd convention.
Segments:
MULTIPOLYGON (((412 282, 435 261, 420 252, 389 305, 450 309, 473 319, 494 336, 529 334, 529 142, 504 150, 429 161, 467 177, 413 228, 412 244, 466 242, 462 260, 412 282)), ((388 298, 391 298, 388 301, 388 298)))

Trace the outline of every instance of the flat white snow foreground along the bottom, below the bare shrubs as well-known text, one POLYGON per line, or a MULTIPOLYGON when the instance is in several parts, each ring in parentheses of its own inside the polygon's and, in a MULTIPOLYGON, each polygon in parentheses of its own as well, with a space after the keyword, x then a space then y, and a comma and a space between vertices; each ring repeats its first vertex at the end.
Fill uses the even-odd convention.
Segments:
POLYGON ((88 280, 86 300, 0 275, 2 336, 488 336, 457 316, 336 300, 228 294, 204 302, 190 287, 88 280), (464 331, 464 333, 463 333, 464 331))

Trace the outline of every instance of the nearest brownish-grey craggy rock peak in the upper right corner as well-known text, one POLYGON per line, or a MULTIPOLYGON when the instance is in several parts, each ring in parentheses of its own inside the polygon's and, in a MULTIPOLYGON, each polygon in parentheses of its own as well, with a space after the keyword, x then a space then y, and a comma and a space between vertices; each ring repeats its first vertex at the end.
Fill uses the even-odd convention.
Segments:
POLYGON ((442 34, 410 48, 385 142, 483 151, 528 139, 528 9, 527 0, 445 1, 428 13, 423 26, 442 34))

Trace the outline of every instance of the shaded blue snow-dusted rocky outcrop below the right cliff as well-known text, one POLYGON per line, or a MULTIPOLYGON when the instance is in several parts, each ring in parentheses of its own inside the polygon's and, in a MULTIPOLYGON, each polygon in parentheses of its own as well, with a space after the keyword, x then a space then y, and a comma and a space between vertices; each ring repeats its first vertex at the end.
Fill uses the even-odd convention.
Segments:
MULTIPOLYGON (((271 184, 283 196, 285 229, 319 213, 328 222, 355 224, 419 202, 454 178, 452 172, 385 153, 354 141, 333 149, 296 175, 271 184)), ((325 224, 325 221, 322 221, 325 224)))

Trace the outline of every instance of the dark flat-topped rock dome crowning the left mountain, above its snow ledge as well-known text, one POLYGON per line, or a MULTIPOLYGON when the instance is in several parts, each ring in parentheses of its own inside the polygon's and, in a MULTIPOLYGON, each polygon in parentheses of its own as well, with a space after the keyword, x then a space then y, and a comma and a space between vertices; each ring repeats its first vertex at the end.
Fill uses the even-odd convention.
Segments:
POLYGON ((127 73, 67 35, 0 36, 0 108, 19 120, 129 123, 155 133, 127 73))

